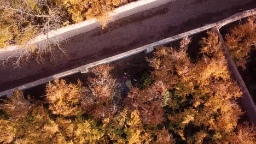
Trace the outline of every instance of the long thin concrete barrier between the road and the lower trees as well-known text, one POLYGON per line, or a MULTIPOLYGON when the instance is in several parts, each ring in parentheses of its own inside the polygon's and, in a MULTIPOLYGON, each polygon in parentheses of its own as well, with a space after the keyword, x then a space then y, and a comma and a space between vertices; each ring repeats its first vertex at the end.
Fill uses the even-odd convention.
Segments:
POLYGON ((213 28, 213 27, 216 27, 216 26, 218 28, 220 28, 221 26, 224 26, 223 23, 225 23, 225 25, 226 25, 227 23, 234 22, 234 21, 240 20, 244 17, 254 15, 254 14, 256 14, 256 9, 243 11, 242 13, 237 13, 233 16, 228 17, 227 19, 224 19, 224 20, 216 22, 216 23, 212 23, 210 25, 206 25, 206 26, 203 26, 203 27, 200 27, 200 28, 196 28, 196 29, 193 29, 191 31, 175 35, 173 37, 166 38, 166 39, 163 39, 163 40, 160 40, 160 41, 156 41, 155 43, 148 44, 148 45, 145 45, 145 46, 142 46, 142 47, 138 47, 137 49, 133 49, 131 51, 127 51, 127 52, 121 53, 119 55, 108 57, 108 58, 102 59, 101 61, 86 64, 86 65, 83 65, 83 66, 75 68, 75 69, 67 70, 63 73, 56 74, 56 75, 53 75, 53 76, 49 76, 49 77, 46 77, 44 79, 40 79, 40 80, 37 80, 37 81, 34 81, 34 82, 30 82, 30 83, 27 83, 27 84, 19 86, 19 87, 8 89, 7 91, 0 92, 0 97, 3 96, 3 95, 11 95, 16 89, 24 90, 24 89, 28 89, 28 88, 32 88, 32 87, 35 87, 35 86, 38 86, 38 85, 42 85, 42 84, 47 83, 49 81, 52 81, 54 79, 62 78, 62 77, 72 75, 72 74, 75 74, 75 73, 87 73, 90 68, 95 67, 97 65, 117 61, 121 58, 129 57, 129 56, 135 55, 135 54, 140 53, 140 52, 146 52, 146 53, 151 52, 151 51, 153 51, 154 47, 171 43, 172 41, 176 41, 176 40, 182 39, 186 36, 196 34, 196 33, 200 33, 202 31, 206 31, 207 29, 210 29, 210 28, 213 28))

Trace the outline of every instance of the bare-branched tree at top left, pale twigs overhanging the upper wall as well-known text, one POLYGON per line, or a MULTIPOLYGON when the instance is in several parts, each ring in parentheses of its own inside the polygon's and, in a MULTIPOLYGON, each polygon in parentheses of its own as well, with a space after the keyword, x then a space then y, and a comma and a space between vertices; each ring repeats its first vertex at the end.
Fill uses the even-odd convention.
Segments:
POLYGON ((54 58, 55 50, 66 55, 65 50, 60 46, 61 41, 49 36, 50 32, 60 28, 65 20, 65 13, 51 5, 50 0, 36 0, 33 4, 28 0, 0 0, 0 11, 2 11, 0 24, 4 22, 5 16, 11 16, 14 21, 9 22, 8 28, 15 25, 21 31, 18 34, 15 33, 15 39, 10 41, 11 44, 18 44, 20 49, 5 59, 2 64, 11 61, 14 67, 20 67, 22 63, 31 59, 32 54, 36 56, 38 62, 43 62, 43 56, 46 53, 50 53, 51 58, 54 58), (8 15, 6 15, 7 11, 9 11, 8 15), (44 35, 44 40, 35 43, 34 38, 38 35, 44 35))

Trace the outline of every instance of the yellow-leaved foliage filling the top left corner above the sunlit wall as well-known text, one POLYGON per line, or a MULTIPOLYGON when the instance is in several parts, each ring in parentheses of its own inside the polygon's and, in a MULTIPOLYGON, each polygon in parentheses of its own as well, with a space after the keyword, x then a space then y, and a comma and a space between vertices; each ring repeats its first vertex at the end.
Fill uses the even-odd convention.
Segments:
POLYGON ((27 46, 36 34, 60 27, 62 19, 51 4, 33 0, 2 0, 0 14, 0 48, 9 44, 27 46))

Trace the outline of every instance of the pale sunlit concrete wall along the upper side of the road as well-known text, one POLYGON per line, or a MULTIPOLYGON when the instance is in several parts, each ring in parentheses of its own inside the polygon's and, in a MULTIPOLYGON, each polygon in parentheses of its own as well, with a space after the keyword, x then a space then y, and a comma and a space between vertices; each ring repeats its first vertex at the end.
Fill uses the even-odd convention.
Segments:
MULTIPOLYGON (((108 22, 122 19, 124 17, 139 13, 141 11, 149 10, 152 8, 159 7, 162 4, 172 2, 173 0, 140 0, 137 2, 132 2, 126 5, 123 5, 117 9, 114 9, 109 13, 109 16, 112 19, 108 22)), ((96 19, 85 20, 84 22, 76 23, 74 25, 69 25, 60 29, 51 31, 48 34, 48 37, 53 40, 62 41, 75 35, 86 33, 95 29, 97 27, 102 27, 100 21, 96 19)), ((38 37, 31 40, 32 44, 43 45, 46 39, 46 35, 39 35, 38 37)), ((0 61, 7 59, 8 57, 15 57, 19 55, 22 50, 19 49, 19 46, 9 46, 7 49, 0 49, 0 61)))

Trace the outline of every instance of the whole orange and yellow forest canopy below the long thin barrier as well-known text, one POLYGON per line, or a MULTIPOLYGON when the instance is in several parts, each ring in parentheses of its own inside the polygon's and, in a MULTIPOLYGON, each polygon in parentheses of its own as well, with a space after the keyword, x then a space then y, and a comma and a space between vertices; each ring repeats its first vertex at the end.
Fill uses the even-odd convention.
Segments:
POLYGON ((152 82, 124 98, 109 65, 92 68, 86 85, 48 83, 43 100, 15 92, 1 103, 0 142, 254 143, 222 44, 207 34, 196 61, 187 53, 191 38, 158 47, 148 59, 152 82))

